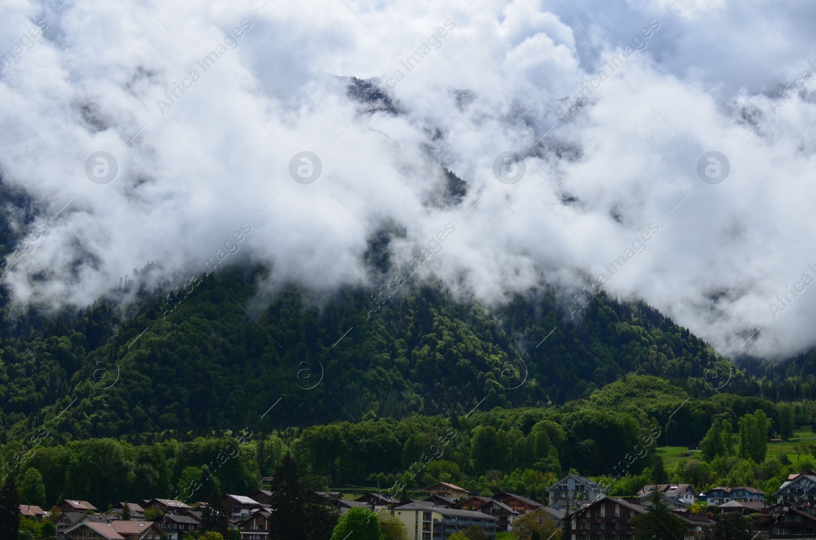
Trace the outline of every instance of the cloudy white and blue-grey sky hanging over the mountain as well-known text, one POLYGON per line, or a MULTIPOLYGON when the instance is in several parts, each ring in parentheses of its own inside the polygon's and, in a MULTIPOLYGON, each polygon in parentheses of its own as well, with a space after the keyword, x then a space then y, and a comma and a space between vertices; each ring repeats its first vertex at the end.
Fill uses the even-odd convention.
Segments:
POLYGON ((379 286, 380 238, 393 277, 422 258, 490 306, 602 288, 727 356, 816 342, 812 2, 0 9, 0 175, 37 208, 2 277, 20 303, 214 257, 272 289, 379 286))

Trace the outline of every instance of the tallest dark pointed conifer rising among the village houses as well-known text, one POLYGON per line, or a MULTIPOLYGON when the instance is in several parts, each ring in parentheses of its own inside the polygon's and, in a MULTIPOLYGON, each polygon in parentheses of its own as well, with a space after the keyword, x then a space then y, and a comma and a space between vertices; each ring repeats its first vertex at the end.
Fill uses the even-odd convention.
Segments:
MULTIPOLYGON (((305 540, 306 522, 298 468, 288 452, 275 469, 269 491, 272 492, 269 504, 274 508, 269 518, 270 540, 305 540)), ((379 522, 377 526, 379 528, 379 522)))

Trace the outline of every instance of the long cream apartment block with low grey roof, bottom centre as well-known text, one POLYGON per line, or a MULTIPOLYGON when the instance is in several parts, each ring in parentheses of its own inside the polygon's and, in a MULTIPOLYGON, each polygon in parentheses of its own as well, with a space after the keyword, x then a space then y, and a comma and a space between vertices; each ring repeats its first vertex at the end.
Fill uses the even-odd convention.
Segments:
POLYGON ((480 527, 490 540, 496 538, 498 520, 482 512, 435 507, 430 502, 410 502, 394 507, 392 512, 406 526, 408 540, 447 540, 471 525, 480 527))

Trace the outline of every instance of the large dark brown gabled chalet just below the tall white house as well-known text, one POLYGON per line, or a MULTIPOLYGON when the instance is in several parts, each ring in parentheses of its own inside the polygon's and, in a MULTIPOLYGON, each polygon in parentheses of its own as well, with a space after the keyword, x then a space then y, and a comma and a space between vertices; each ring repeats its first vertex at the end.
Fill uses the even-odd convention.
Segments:
POLYGON ((571 540, 598 540, 601 534, 604 538, 632 538, 632 518, 646 512, 641 505, 622 498, 601 498, 575 512, 571 540))

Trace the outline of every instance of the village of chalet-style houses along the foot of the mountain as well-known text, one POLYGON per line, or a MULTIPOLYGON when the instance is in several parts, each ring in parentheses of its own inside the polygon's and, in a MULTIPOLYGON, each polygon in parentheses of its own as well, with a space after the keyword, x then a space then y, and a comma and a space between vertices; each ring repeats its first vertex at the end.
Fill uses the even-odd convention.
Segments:
MULTIPOLYGON (((262 479, 268 484, 271 477, 262 479)), ((313 491, 322 503, 334 505, 342 515, 361 507, 388 512, 405 526, 409 540, 446 540, 463 529, 477 527, 486 538, 507 538, 521 516, 538 513, 539 519, 571 530, 569 540, 631 540, 636 516, 650 511, 655 494, 686 525, 685 537, 703 538, 705 528, 731 513, 756 517, 754 538, 816 538, 816 516, 812 511, 816 494, 816 471, 792 477, 772 495, 751 487, 716 487, 698 493, 692 485, 645 485, 631 497, 610 497, 602 485, 585 476, 565 475, 548 491, 548 502, 537 502, 518 494, 499 493, 492 497, 470 494, 447 482, 429 485, 426 498, 397 500, 388 494, 369 492, 346 498, 339 491, 313 491), (650 497, 651 496, 651 497, 650 497), (647 499, 648 498, 648 499, 647 499), (704 508, 704 510, 703 510, 704 508)), ((268 521, 277 511, 270 505, 273 493, 256 489, 251 494, 224 494, 222 510, 227 514, 233 538, 268 540, 268 521)), ((20 505, 26 519, 50 520, 60 540, 191 540, 202 533, 202 512, 211 504, 192 505, 171 499, 153 498, 140 502, 120 502, 106 511, 90 502, 64 499, 50 511, 20 505)), ((565 539, 566 540, 566 539, 565 539)))

